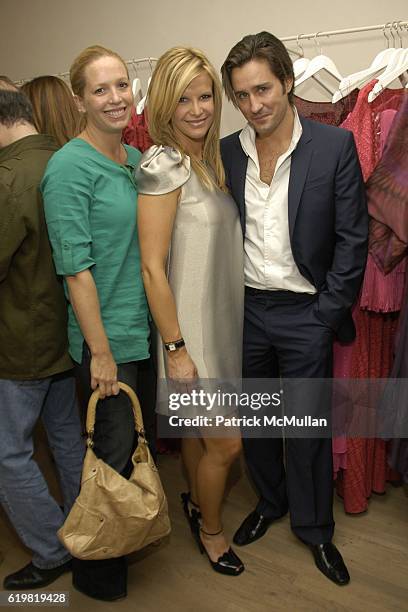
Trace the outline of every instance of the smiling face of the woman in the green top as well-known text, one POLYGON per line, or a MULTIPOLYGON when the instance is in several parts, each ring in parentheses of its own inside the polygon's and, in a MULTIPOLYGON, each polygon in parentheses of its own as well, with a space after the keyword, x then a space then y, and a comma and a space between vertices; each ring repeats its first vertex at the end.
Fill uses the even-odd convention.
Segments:
POLYGON ((116 57, 101 57, 85 69, 85 88, 77 96, 87 125, 116 133, 129 123, 133 94, 124 64, 116 57))

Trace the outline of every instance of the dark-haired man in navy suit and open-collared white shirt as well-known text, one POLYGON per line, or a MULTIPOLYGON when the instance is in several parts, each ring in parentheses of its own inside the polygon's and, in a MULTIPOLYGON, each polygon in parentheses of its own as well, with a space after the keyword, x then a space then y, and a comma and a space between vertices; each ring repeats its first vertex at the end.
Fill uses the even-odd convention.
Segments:
MULTIPOLYGON (((245 237, 243 376, 330 378, 334 338, 355 336, 350 307, 367 254, 353 135, 298 115, 292 61, 268 32, 245 36, 221 72, 227 97, 247 120, 221 141, 245 237)), ((327 410, 327 395, 325 403, 327 410)), ((292 530, 309 545, 317 567, 347 584, 331 541, 331 439, 288 437, 286 465, 281 438, 243 442, 259 502, 234 542, 253 542, 289 509, 292 530)))

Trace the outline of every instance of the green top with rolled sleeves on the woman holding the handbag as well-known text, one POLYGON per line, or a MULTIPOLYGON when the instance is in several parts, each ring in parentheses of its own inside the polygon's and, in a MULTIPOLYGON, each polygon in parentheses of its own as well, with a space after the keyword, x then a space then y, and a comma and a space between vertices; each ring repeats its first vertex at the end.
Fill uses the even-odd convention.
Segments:
MULTIPOLYGON (((118 164, 81 138, 50 159, 41 191, 57 274, 89 269, 116 363, 149 356, 149 312, 140 270, 137 184, 140 152, 118 164)), ((69 300, 65 283, 65 293, 69 300)), ((69 350, 81 363, 84 338, 68 303, 69 350)))

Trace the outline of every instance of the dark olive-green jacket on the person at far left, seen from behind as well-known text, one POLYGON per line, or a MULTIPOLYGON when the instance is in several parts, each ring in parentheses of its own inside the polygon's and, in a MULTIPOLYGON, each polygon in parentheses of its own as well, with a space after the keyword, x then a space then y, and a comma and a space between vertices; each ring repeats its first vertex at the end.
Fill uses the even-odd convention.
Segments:
POLYGON ((41 134, 0 149, 0 378, 45 378, 72 367, 38 189, 57 149, 41 134))

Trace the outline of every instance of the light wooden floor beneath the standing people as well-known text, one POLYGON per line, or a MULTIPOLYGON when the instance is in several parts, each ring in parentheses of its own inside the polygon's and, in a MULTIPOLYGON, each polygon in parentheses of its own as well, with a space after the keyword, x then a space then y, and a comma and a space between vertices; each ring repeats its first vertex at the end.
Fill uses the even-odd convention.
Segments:
MULTIPOLYGON (((51 490, 57 491, 52 464, 40 452, 40 463, 51 490)), ((375 496, 367 513, 345 515, 335 499, 335 542, 347 562, 351 582, 338 587, 315 568, 307 548, 291 533, 286 517, 247 548, 237 549, 246 565, 239 577, 216 574, 191 539, 179 503, 185 490, 179 460, 161 456, 159 467, 166 489, 172 533, 159 546, 134 554, 129 567, 127 599, 115 603, 90 600, 74 591, 70 576, 59 578, 50 591, 69 591, 75 612, 398 612, 408 610, 408 497, 404 488, 390 487, 375 496)), ((253 508, 256 496, 237 464, 224 510, 225 530, 234 529, 253 508)), ((0 548, 4 561, 0 579, 22 567, 30 553, 0 514, 0 548)))

